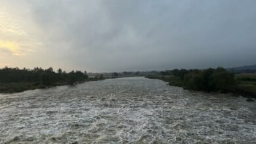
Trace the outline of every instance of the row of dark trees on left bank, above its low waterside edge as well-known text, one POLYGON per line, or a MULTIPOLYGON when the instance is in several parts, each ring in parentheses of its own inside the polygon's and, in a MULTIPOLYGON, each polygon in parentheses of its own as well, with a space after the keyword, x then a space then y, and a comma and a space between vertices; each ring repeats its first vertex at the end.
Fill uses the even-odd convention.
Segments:
POLYGON ((54 86, 58 83, 74 84, 88 79, 88 75, 81 71, 71 71, 66 73, 62 69, 54 72, 53 68, 42 69, 35 67, 34 69, 19 69, 5 67, 0 69, 0 83, 17 83, 17 82, 37 82, 45 86, 54 86))

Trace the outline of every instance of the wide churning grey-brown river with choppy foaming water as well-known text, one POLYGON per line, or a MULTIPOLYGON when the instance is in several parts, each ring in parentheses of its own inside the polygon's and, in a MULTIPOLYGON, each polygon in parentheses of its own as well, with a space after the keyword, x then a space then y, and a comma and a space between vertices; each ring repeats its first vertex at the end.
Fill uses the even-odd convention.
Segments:
POLYGON ((256 102, 143 77, 0 94, 0 143, 256 143, 256 102))

